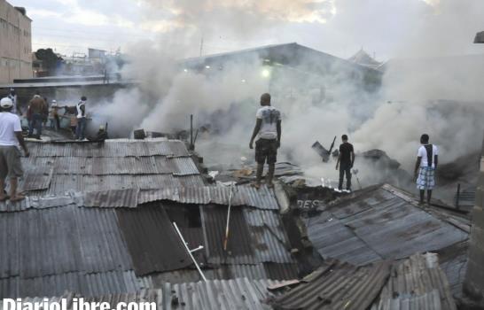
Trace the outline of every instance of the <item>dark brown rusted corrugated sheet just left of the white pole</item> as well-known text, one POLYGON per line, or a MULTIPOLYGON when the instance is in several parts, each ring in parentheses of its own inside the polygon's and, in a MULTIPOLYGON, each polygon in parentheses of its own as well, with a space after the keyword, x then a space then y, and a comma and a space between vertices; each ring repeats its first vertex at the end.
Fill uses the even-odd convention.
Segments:
POLYGON ((137 275, 192 265, 168 215, 160 205, 116 209, 137 275))

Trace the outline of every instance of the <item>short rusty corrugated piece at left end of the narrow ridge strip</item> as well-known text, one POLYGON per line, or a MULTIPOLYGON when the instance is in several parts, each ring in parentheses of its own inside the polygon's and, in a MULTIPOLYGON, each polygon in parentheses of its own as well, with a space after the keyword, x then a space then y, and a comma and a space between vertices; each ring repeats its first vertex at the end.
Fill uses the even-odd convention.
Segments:
POLYGON ((84 206, 137 207, 139 189, 91 191, 84 193, 84 206))

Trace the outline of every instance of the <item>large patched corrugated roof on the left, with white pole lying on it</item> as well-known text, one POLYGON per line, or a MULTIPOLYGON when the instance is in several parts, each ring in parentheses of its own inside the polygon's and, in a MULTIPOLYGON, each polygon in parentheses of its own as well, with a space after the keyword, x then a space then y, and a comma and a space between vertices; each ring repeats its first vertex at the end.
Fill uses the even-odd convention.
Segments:
POLYGON ((293 279, 273 190, 207 184, 176 140, 29 143, 21 186, 0 203, 0 298, 100 296, 208 279, 293 279), (230 200, 230 196, 233 196, 230 200), (230 237, 222 247, 228 205, 230 237))

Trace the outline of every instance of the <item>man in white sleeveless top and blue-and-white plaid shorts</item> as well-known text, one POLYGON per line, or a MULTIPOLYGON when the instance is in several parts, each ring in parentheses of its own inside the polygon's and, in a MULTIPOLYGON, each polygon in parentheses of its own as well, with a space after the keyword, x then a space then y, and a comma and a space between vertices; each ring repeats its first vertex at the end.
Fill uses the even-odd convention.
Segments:
POLYGON ((435 187, 435 169, 439 161, 439 149, 429 144, 429 136, 420 137, 422 146, 418 148, 417 162, 415 163, 415 177, 417 188, 420 190, 420 205, 424 205, 425 190, 427 191, 427 204, 430 205, 432 190, 435 187))

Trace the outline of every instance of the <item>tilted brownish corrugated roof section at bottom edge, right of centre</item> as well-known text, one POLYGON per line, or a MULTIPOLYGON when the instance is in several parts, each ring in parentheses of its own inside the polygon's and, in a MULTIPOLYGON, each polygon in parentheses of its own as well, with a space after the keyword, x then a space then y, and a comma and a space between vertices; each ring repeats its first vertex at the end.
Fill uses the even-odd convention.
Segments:
POLYGON ((326 260, 290 291, 273 298, 277 309, 361 310, 371 306, 390 275, 391 264, 355 267, 326 260))

